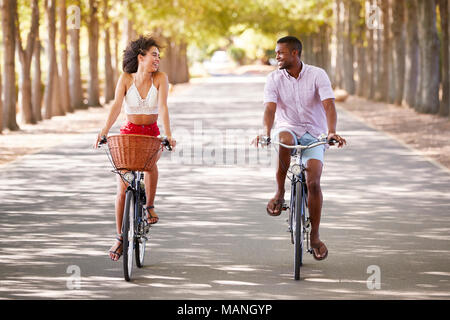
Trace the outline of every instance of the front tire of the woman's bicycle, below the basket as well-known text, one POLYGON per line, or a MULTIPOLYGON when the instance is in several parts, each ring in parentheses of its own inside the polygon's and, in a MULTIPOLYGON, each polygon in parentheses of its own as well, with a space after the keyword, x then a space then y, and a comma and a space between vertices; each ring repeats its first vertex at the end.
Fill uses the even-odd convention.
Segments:
POLYGON ((126 281, 131 280, 133 273, 134 250, 134 193, 128 190, 125 196, 123 210, 122 239, 123 239, 123 275, 126 281))

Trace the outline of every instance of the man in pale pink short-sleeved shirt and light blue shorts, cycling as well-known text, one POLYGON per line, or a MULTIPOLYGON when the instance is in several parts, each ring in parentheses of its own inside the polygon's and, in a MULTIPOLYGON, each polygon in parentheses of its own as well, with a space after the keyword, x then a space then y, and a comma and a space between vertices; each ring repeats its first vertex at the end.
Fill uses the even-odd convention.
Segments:
MULTIPOLYGON (((266 137, 270 137, 276 118, 276 133, 281 143, 306 145, 328 132, 328 140, 335 139, 338 147, 342 147, 346 141, 336 134, 334 93, 326 72, 301 61, 302 43, 296 37, 279 39, 275 52, 279 69, 268 75, 264 88, 263 122, 266 137)), ((256 145, 262 138, 263 136, 258 136, 255 139, 256 145)), ((314 258, 323 260, 328 256, 328 249, 319 237, 323 201, 320 177, 325 146, 320 145, 302 152, 311 219, 310 243, 314 258)), ((279 216, 283 208, 290 157, 291 150, 280 147, 276 172, 277 191, 267 204, 267 213, 271 216, 279 216)))

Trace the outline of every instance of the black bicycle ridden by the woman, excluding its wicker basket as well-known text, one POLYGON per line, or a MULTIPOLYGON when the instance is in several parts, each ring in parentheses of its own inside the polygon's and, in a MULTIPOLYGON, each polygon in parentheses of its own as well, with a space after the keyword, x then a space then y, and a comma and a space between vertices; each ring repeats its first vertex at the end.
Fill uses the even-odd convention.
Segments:
MULTIPOLYGON (((172 150, 167 137, 158 136, 161 144, 169 151, 172 150)), ((102 137, 99 145, 108 143, 106 137, 102 137)), ((151 160, 156 156, 157 150, 150 155, 151 160)), ((126 281, 131 280, 133 272, 133 256, 136 260, 136 266, 142 268, 144 266, 145 248, 149 239, 149 231, 151 224, 147 222, 147 214, 144 208, 146 203, 144 172, 139 170, 124 170, 118 168, 115 164, 111 151, 106 151, 108 158, 114 167, 113 172, 118 174, 122 180, 128 184, 125 191, 125 206, 123 211, 122 222, 122 239, 123 239, 123 273, 126 281), (133 255, 134 251, 134 255, 133 255)), ((144 168, 147 166, 144 166, 144 168)))

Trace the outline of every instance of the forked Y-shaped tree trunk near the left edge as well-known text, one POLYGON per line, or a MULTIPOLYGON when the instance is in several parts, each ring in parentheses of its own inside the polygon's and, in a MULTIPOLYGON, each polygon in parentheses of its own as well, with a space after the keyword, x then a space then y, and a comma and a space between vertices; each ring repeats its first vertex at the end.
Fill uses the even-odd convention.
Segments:
POLYGON ((33 0, 31 4, 31 28, 27 36, 26 47, 22 47, 22 39, 20 36, 19 17, 16 15, 16 45, 19 53, 19 61, 21 66, 21 109, 22 122, 35 124, 37 123, 33 113, 32 106, 32 92, 31 92, 31 59, 33 58, 34 46, 36 45, 37 31, 39 29, 39 3, 38 0, 33 0))

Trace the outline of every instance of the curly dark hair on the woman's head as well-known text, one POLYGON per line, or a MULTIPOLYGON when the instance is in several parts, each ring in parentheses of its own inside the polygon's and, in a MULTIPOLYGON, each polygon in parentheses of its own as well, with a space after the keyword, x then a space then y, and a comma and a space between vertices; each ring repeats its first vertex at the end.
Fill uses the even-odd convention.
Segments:
POLYGON ((145 56, 151 47, 158 49, 161 46, 156 40, 150 36, 139 36, 136 40, 131 41, 123 52, 122 69, 127 73, 135 73, 138 68, 138 55, 145 56))

